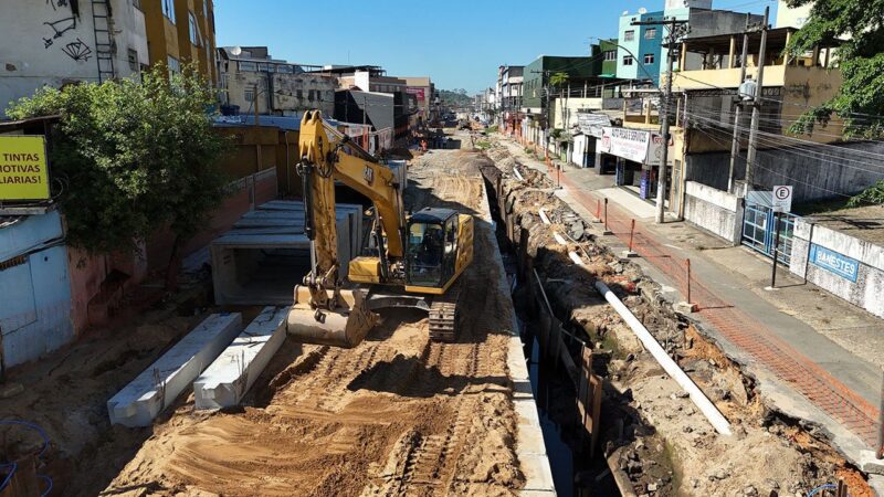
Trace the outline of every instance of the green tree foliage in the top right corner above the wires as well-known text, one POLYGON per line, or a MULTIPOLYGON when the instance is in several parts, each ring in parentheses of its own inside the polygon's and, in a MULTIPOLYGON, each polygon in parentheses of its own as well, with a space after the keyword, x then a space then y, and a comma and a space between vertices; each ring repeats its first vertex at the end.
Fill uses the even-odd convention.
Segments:
POLYGON ((884 135, 884 0, 788 0, 789 7, 812 3, 810 15, 787 51, 798 56, 819 43, 844 40, 838 64, 844 78, 838 95, 807 112, 793 133, 809 133, 833 116, 844 119, 845 135, 884 135))

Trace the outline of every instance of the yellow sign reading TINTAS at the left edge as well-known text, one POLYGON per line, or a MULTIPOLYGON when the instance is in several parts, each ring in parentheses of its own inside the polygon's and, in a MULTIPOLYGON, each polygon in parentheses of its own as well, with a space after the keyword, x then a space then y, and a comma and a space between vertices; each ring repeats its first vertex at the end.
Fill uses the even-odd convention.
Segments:
POLYGON ((0 136, 0 201, 49 199, 46 141, 42 136, 0 136))

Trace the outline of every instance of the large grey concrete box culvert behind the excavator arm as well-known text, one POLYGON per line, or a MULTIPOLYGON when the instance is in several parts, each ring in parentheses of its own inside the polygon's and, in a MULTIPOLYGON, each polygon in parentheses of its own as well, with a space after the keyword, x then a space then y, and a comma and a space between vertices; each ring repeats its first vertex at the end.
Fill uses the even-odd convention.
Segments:
MULTIPOLYGON (((274 200, 243 215, 211 244, 218 305, 291 305, 309 271, 304 203, 274 200)), ((346 274, 364 245, 360 205, 337 205, 338 258, 346 274)))

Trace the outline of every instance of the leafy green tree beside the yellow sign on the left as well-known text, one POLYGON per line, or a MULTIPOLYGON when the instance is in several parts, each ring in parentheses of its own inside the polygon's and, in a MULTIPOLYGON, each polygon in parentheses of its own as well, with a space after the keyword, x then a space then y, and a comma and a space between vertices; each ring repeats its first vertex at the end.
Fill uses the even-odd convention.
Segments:
POLYGON ((91 253, 131 250, 158 229, 179 247, 224 197, 217 169, 229 142, 212 129, 215 92, 193 67, 169 76, 158 66, 143 82, 124 80, 43 88, 7 112, 23 119, 60 115, 49 137, 67 242, 91 253))

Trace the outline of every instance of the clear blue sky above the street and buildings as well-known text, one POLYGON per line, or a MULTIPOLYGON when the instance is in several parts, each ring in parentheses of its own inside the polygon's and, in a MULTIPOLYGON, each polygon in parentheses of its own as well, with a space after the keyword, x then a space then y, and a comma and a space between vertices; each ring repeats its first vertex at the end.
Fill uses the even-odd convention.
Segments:
MULTIPOLYGON (((582 55, 589 36, 614 38, 620 14, 663 0, 215 0, 217 42, 267 45, 304 64, 373 64, 390 75, 429 75, 436 88, 475 93, 501 64, 537 55, 582 55)), ((713 7, 764 12, 776 1, 714 0, 713 7)))

